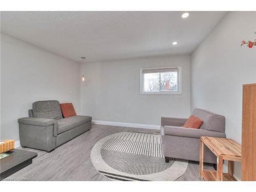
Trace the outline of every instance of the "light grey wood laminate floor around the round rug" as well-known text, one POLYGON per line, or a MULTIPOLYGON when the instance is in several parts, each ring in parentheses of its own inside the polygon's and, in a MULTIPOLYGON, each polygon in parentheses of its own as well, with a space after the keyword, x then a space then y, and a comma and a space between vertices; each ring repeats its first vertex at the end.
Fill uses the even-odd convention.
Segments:
MULTIPOLYGON (((94 168, 90 158, 91 150, 94 144, 105 136, 123 131, 156 132, 156 130, 93 124, 90 131, 57 147, 51 153, 18 147, 22 150, 37 152, 38 156, 33 159, 32 164, 19 170, 6 180, 109 181, 94 168)), ((205 168, 213 169, 212 164, 206 164, 205 168)), ((177 180, 202 180, 199 178, 199 163, 189 161, 186 172, 177 180)))

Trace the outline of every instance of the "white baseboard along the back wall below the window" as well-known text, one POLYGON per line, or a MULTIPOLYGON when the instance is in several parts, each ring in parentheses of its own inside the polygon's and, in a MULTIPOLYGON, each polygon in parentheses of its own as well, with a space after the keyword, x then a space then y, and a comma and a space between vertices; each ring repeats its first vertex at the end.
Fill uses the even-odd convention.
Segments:
POLYGON ((102 125, 112 125, 112 126, 134 127, 134 128, 140 128, 140 129, 160 130, 160 125, 152 125, 152 124, 124 123, 124 122, 100 121, 100 120, 92 120, 92 123, 102 124, 102 125))

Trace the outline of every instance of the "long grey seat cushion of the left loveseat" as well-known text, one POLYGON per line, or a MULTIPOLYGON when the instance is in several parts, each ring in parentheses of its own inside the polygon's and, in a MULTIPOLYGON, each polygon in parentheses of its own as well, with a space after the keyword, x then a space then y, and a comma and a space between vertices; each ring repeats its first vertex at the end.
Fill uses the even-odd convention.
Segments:
POLYGON ((92 121, 90 116, 75 115, 57 120, 58 134, 74 129, 84 123, 92 121))

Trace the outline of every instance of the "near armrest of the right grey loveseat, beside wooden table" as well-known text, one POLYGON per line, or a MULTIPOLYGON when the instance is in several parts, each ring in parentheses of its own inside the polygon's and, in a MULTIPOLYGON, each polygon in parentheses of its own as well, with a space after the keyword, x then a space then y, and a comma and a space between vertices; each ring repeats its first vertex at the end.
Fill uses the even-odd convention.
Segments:
POLYGON ((178 137, 189 137, 189 138, 200 138, 201 136, 208 137, 226 137, 226 134, 223 132, 215 132, 201 129, 192 129, 186 127, 178 127, 178 126, 163 126, 163 134, 164 135, 172 135, 178 137))

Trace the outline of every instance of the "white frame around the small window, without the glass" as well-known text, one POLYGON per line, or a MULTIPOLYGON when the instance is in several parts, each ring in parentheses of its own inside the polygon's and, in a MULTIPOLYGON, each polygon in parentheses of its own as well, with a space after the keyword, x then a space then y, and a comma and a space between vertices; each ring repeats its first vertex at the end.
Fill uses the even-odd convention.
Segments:
POLYGON ((182 67, 162 67, 162 68, 146 68, 140 69, 140 94, 141 95, 181 95, 182 94, 182 67), (143 82, 143 70, 161 70, 161 69, 178 69, 178 91, 158 91, 158 92, 144 92, 144 82, 143 82))

